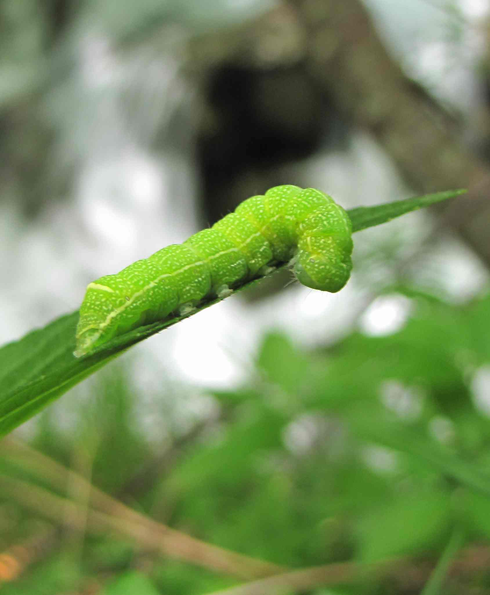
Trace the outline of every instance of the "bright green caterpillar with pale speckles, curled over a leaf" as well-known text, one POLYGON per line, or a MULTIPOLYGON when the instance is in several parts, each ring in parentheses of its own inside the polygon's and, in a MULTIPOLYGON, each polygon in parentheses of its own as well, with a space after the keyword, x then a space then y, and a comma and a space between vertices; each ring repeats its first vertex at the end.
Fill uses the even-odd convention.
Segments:
POLYGON ((276 186, 183 244, 172 244, 87 287, 74 355, 290 262, 307 287, 338 292, 352 270, 352 227, 344 209, 313 188, 276 186))

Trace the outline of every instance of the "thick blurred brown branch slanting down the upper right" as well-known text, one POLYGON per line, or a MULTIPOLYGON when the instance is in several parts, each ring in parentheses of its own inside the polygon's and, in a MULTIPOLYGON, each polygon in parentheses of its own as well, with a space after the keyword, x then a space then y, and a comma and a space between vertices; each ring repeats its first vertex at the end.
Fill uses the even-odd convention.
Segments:
POLYGON ((359 0, 288 4, 303 23, 312 76, 348 121, 376 137, 414 189, 469 188, 472 200, 439 212, 490 265, 488 164, 464 145, 456 123, 392 60, 359 0))

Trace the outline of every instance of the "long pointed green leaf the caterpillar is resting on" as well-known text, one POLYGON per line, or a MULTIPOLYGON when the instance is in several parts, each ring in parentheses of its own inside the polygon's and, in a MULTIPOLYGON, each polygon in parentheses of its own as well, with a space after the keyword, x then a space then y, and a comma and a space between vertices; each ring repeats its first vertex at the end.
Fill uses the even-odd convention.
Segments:
MULTIPOLYGON (((360 231, 386 223, 407 212, 454 198, 464 192, 466 191, 439 192, 385 205, 356 208, 348 214, 353 230, 360 231)), ((258 281, 260 279, 250 281, 237 291, 258 281)), ((221 299, 204 303, 193 314, 219 301, 221 299)), ((32 417, 49 402, 108 364, 129 347, 187 316, 137 328, 80 359, 73 356, 77 317, 78 312, 62 316, 44 328, 35 330, 23 339, 0 349, 0 436, 32 417)))

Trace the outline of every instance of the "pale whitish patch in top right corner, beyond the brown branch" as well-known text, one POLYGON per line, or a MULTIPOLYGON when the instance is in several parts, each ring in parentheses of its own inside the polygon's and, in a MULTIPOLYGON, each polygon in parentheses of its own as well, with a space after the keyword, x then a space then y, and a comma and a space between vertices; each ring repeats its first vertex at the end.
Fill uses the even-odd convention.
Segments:
POLYGON ((481 101, 475 70, 488 0, 364 0, 409 76, 467 114, 481 101), (464 89, 464 92, 461 90, 464 89))

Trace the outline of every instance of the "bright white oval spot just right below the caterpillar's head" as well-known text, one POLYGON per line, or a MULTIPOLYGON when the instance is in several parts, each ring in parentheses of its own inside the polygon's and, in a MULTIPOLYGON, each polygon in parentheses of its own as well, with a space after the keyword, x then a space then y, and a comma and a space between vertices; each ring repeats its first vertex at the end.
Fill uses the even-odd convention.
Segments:
POLYGON ((412 312, 412 300, 400 293, 376 298, 360 318, 360 330, 370 337, 396 333, 412 312))

